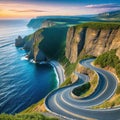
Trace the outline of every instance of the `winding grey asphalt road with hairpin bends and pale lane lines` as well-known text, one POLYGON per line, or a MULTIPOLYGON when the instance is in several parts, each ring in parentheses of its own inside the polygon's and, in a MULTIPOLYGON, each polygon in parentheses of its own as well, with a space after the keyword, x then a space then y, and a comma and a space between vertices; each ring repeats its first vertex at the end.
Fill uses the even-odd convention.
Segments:
POLYGON ((68 119, 99 119, 99 120, 119 120, 120 108, 93 110, 90 107, 101 104, 109 99, 117 88, 117 80, 110 73, 103 69, 91 65, 94 59, 87 59, 80 62, 83 66, 94 70, 99 75, 99 85, 95 92, 83 99, 75 99, 71 96, 74 88, 83 85, 89 80, 84 74, 79 75, 79 80, 63 88, 51 92, 45 99, 45 106, 49 112, 63 116, 68 119))

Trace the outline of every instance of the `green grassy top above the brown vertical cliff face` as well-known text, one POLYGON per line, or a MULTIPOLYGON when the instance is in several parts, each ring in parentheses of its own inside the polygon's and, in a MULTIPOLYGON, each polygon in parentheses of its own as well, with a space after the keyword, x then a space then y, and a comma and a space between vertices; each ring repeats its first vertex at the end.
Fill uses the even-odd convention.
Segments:
POLYGON ((120 28, 120 22, 89 22, 76 26, 77 29, 87 27, 92 29, 118 29, 120 28))

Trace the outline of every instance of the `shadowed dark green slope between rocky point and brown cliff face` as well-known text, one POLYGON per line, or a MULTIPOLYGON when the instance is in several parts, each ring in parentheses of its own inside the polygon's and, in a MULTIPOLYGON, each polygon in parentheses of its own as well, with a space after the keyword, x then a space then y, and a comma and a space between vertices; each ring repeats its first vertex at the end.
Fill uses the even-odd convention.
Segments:
POLYGON ((67 29, 66 27, 51 27, 43 30, 44 38, 38 47, 48 58, 58 60, 65 51, 67 29))

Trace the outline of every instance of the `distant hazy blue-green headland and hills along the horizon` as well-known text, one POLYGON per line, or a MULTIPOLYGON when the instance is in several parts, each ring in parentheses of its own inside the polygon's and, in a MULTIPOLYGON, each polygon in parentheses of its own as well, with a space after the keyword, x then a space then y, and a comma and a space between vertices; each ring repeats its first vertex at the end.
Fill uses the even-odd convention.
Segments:
POLYGON ((90 16, 41 16, 31 19, 27 26, 35 29, 53 26, 65 27, 90 21, 120 21, 120 10, 90 16))

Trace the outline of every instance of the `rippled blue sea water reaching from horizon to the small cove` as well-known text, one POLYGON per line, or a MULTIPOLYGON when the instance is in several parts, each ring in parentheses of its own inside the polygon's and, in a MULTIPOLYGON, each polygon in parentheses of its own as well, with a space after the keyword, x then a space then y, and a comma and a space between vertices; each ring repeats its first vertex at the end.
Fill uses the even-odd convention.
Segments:
POLYGON ((51 65, 23 60, 25 51, 14 45, 18 35, 34 32, 26 27, 27 22, 0 20, 0 113, 18 113, 57 87, 51 65))

